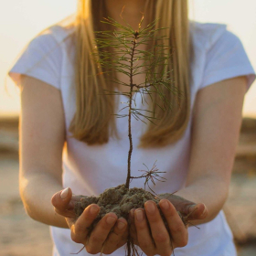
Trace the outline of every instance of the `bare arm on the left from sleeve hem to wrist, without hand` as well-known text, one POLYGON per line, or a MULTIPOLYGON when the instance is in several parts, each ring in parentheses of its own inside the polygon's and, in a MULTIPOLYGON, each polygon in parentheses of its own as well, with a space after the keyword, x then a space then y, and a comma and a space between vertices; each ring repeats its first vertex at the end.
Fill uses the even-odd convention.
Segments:
POLYGON ((37 221, 68 228, 55 213, 51 197, 63 187, 65 121, 60 91, 41 80, 21 78, 19 191, 27 214, 37 221))

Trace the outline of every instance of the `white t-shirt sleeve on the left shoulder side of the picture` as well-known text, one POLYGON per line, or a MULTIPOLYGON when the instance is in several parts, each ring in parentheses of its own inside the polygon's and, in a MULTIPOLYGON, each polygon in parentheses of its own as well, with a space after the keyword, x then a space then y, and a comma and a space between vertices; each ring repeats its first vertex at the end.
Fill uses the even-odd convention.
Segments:
POLYGON ((61 48, 50 34, 32 39, 20 54, 8 76, 20 85, 21 74, 42 80, 60 90, 61 48))

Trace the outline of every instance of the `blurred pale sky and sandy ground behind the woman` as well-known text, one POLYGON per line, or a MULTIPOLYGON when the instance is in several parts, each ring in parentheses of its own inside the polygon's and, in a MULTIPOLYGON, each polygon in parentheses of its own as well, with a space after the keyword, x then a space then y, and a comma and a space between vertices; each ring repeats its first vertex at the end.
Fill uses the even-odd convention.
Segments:
MULTIPOLYGON (((256 69, 256 1, 188 0, 190 19, 227 24, 256 69)), ((44 28, 76 12, 76 0, 9 0, 0 9, 0 255, 51 255, 48 226, 29 219, 18 193, 19 90, 7 77, 44 28)), ((247 92, 240 142, 224 207, 240 256, 256 255, 256 85, 247 92)))

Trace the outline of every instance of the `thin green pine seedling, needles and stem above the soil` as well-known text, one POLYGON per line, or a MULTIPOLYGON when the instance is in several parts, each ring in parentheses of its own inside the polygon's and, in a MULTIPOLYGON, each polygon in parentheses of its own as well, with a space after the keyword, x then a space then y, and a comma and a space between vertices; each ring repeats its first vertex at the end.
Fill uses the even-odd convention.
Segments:
POLYGON ((165 97, 163 89, 166 88, 174 95, 178 95, 176 87, 173 85, 173 81, 171 80, 170 70, 167 70, 169 59, 172 61, 172 48, 169 48, 163 44, 157 44, 148 50, 139 49, 140 45, 148 45, 151 43, 153 37, 155 37, 156 42, 162 42, 162 39, 165 36, 157 36, 156 33, 159 30, 167 27, 154 29, 155 24, 158 21, 158 19, 155 19, 155 21, 150 23, 147 27, 142 28, 143 21, 144 16, 138 25, 138 29, 133 30, 133 27, 131 27, 126 21, 125 23, 127 26, 125 27, 113 20, 111 17, 104 18, 104 20, 101 21, 102 23, 116 27, 118 30, 96 31, 95 34, 98 35, 98 37, 95 39, 94 51, 91 53, 94 60, 106 70, 101 72, 101 74, 106 73, 106 75, 109 75, 112 72, 112 69, 114 69, 116 72, 121 72, 124 76, 129 78, 129 83, 125 83, 123 80, 118 80, 117 78, 113 78, 111 80, 115 84, 129 87, 128 92, 105 91, 107 95, 124 95, 128 98, 128 101, 124 102, 125 106, 123 109, 121 109, 119 113, 114 114, 117 118, 128 118, 128 137, 130 149, 128 152, 127 161, 127 178, 125 182, 126 188, 129 188, 130 182, 133 178, 144 177, 146 180, 145 184, 147 185, 149 180, 151 180, 155 185, 154 177, 156 179, 157 177, 161 179, 161 177, 158 175, 161 172, 158 172, 155 164, 150 171, 146 167, 147 171, 144 171, 145 174, 143 176, 131 176, 131 158, 133 153, 133 135, 131 129, 132 116, 137 121, 144 123, 148 121, 154 123, 156 119, 155 105, 157 105, 163 111, 172 109, 172 105, 169 99, 165 97), (113 55, 110 51, 103 50, 103 48, 114 48, 116 55, 113 55), (139 60, 141 60, 143 64, 138 64, 139 60), (159 69, 157 69, 159 65, 162 65, 161 67, 163 67, 160 72, 159 69), (143 68, 144 70, 142 71, 141 69, 143 68), (133 82, 133 78, 139 74, 145 74, 145 80, 140 84, 135 84, 133 82), (134 95, 134 99, 133 93, 136 94, 134 95), (159 105, 154 102, 152 97, 153 93, 157 93, 163 104, 159 105), (137 108, 135 102, 137 94, 139 94, 141 97, 143 105, 144 102, 148 104, 148 101, 151 100, 154 106, 153 110, 137 108), (128 109, 128 113, 120 113, 125 109, 128 109))

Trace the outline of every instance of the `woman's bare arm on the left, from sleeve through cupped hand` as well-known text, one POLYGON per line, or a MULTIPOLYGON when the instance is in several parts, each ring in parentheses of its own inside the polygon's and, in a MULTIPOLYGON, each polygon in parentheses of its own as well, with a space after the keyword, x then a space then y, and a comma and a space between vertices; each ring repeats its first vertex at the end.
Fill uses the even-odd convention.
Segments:
POLYGON ((70 240, 91 253, 101 252, 102 244, 104 253, 115 251, 126 242, 127 221, 108 213, 88 239, 88 227, 100 208, 91 205, 77 219, 73 202, 78 196, 71 189, 62 190, 65 116, 60 91, 27 76, 22 77, 21 86, 19 191, 27 214, 45 224, 69 228, 70 240))

